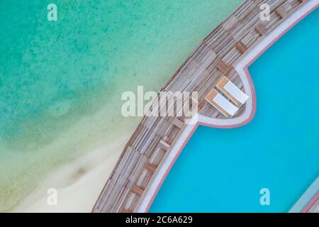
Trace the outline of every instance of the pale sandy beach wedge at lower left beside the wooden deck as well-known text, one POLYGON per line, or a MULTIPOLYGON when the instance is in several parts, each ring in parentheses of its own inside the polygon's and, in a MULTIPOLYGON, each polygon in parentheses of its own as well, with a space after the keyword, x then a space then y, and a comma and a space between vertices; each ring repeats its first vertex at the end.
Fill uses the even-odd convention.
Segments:
POLYGON ((13 212, 90 212, 132 132, 52 170, 13 212), (58 187, 57 187, 58 186, 58 187), (57 189, 57 205, 47 204, 47 189, 57 189))

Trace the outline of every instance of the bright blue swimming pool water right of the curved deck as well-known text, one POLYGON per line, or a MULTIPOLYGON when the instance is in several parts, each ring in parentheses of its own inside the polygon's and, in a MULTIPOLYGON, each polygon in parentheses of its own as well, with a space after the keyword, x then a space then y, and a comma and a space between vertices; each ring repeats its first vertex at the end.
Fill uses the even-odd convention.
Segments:
POLYGON ((242 128, 199 126, 150 212, 286 212, 319 175, 319 9, 249 68, 257 113, 242 128), (270 205, 259 190, 270 190, 270 205))

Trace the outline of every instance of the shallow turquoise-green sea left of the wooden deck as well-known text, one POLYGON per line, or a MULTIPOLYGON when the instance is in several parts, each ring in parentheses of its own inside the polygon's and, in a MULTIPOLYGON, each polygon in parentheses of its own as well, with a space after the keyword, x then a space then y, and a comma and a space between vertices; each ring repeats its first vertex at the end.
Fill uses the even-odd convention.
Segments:
POLYGON ((241 2, 1 0, 0 211, 132 130, 139 118, 121 117, 122 92, 159 90, 241 2))

